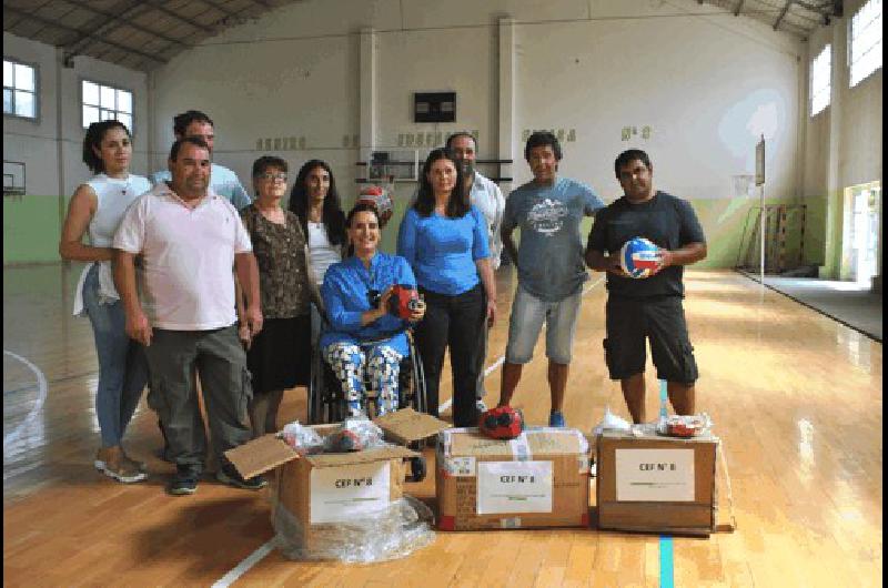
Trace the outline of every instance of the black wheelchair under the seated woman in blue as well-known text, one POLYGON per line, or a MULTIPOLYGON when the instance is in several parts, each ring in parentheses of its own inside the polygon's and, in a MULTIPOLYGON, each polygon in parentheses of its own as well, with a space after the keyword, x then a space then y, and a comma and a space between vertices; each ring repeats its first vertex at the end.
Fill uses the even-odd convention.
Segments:
MULTIPOLYGON (((413 332, 406 331, 408 353, 401 359, 398 373, 398 408, 413 407, 414 410, 426 413, 428 409, 425 392, 425 374, 420 351, 413 341, 413 332)), ((364 396, 365 410, 370 418, 379 414, 377 391, 371 389, 371 382, 365 375, 364 396)), ((319 345, 312 347, 311 377, 309 379, 309 424, 316 425, 323 423, 339 423, 346 414, 346 401, 342 392, 342 385, 333 373, 333 368, 321 354, 319 345)), ((422 440, 415 442, 412 449, 421 450, 422 440)), ((425 457, 411 458, 410 481, 422 481, 425 478, 426 467, 425 457)))

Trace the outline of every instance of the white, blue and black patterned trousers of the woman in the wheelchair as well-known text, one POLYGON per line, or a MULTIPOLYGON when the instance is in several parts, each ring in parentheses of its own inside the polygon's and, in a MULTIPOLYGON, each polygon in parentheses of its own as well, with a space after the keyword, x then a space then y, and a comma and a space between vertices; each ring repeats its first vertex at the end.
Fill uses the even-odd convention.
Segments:
POLYGON ((326 346, 324 358, 342 385, 349 416, 365 414, 365 373, 376 392, 377 416, 397 409, 397 376, 403 356, 395 349, 389 345, 339 342, 326 346))

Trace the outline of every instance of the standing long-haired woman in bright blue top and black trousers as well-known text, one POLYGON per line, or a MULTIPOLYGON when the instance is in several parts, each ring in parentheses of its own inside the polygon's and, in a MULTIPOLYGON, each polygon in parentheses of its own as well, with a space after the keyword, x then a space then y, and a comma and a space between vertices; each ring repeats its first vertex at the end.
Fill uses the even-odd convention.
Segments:
POLYGON ((416 327, 430 413, 437 416, 444 352, 451 349, 453 423, 477 425, 478 333, 496 317, 487 227, 471 205, 461 166, 443 149, 425 160, 416 202, 401 222, 397 253, 413 267, 426 314, 416 327))

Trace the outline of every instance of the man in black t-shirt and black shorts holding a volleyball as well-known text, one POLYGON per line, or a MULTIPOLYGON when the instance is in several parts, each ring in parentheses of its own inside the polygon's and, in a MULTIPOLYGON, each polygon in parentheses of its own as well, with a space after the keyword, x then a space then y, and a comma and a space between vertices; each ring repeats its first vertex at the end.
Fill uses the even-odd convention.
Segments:
POLYGON ((673 408, 692 415, 698 374, 682 306, 682 274, 683 266, 706 257, 703 227, 687 201, 654 190, 654 168, 644 151, 624 151, 614 171, 624 196, 598 212, 586 245, 586 264, 607 272, 607 369, 612 379, 619 379, 633 420, 644 423, 648 338, 657 377, 668 383, 673 408), (636 237, 658 247, 658 263, 649 272, 639 271, 646 262, 643 242, 624 247, 636 237))

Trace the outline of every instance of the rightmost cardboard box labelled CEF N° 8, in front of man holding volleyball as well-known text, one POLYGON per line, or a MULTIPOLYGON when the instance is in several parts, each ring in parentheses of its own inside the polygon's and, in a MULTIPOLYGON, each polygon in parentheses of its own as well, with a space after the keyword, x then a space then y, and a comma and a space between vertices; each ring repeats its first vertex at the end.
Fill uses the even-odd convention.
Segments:
MULTIPOLYGON (((636 428, 636 430, 639 430, 636 428)), ((596 439, 596 503, 602 529, 709 535, 716 526, 712 435, 664 437, 605 430, 596 439)))

